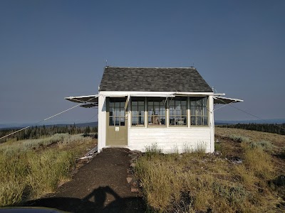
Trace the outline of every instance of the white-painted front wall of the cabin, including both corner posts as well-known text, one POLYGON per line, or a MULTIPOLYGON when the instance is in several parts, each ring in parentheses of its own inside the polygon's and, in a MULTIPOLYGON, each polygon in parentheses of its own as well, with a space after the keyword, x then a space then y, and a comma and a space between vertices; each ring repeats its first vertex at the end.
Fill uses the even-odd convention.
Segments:
MULTIPOLYGON (((99 93, 100 94, 100 93, 99 93)), ((117 93, 116 93, 117 94, 117 93)), ((109 94, 110 95, 110 94, 109 94)), ((209 95, 209 94, 208 94, 209 95)), ((128 120, 130 121, 130 113, 128 120)), ((106 145, 106 97, 98 97, 98 152, 106 145)), ((132 127, 128 122, 128 146, 131 150, 145 151, 148 146, 156 145, 164 153, 185 152, 185 148, 195 150, 204 148, 207 153, 214 152, 214 112, 213 98, 209 95, 209 126, 192 127, 132 127)))

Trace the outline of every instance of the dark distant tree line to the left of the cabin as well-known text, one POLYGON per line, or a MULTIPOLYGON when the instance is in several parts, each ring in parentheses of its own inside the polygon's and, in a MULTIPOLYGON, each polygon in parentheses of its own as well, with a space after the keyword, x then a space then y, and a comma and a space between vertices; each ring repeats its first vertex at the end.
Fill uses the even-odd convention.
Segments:
MULTIPOLYGON (((0 129, 0 138, 3 136, 9 135, 9 133, 13 133, 14 131, 17 131, 19 129, 0 129)), ((84 133, 85 135, 89 133, 95 133, 95 136, 97 136, 97 131, 98 131, 97 126, 78 127, 76 126, 76 124, 66 125, 66 126, 56 126, 56 125, 55 126, 44 126, 44 125, 43 126, 31 126, 28 129, 24 129, 23 131, 14 133, 11 136, 2 138, 0 140, 0 143, 4 143, 11 139, 14 139, 16 141, 25 140, 25 139, 38 139, 41 137, 52 136, 55 133, 69 133, 71 135, 79 134, 79 133, 84 133)))

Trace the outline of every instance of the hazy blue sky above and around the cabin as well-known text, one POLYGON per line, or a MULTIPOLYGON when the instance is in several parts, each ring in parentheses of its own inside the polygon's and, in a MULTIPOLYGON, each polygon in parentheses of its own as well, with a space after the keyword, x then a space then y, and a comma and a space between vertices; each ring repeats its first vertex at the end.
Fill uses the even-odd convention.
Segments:
MULTIPOLYGON (((0 1, 0 123, 97 94, 110 66, 190 67, 235 107, 284 119, 285 1, 0 1)), ((78 107, 51 121, 95 121, 78 107)), ((254 117, 232 107, 216 120, 254 117)), ((43 123, 45 124, 45 123, 43 123)))

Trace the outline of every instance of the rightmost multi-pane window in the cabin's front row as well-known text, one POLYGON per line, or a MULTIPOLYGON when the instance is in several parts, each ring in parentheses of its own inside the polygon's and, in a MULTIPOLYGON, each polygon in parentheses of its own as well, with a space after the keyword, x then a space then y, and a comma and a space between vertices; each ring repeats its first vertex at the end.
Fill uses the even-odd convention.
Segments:
POLYGON ((190 97, 191 125, 208 125, 207 102, 207 97, 190 97))

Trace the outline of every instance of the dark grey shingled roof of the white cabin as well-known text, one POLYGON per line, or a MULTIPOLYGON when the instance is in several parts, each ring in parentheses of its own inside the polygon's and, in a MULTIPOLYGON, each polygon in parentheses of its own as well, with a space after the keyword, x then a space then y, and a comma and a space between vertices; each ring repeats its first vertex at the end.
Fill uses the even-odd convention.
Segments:
POLYGON ((194 67, 105 67, 100 91, 212 92, 194 67))

